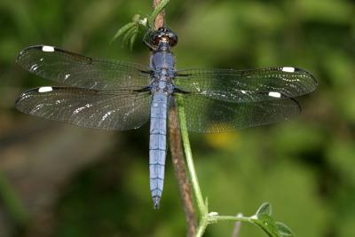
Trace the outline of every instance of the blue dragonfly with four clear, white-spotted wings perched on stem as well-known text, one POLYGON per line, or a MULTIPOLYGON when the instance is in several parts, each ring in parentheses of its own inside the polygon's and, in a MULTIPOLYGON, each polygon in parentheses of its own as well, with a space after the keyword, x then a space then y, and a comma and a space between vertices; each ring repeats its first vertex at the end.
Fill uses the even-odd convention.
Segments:
POLYGON ((160 205, 167 154, 167 118, 183 101, 186 127, 228 132, 286 121, 301 112, 296 97, 317 81, 297 67, 250 70, 175 68, 177 34, 159 28, 143 38, 149 66, 93 59, 49 45, 20 51, 16 62, 29 72, 67 86, 43 86, 16 100, 23 113, 102 130, 138 129, 150 121, 149 178, 154 208, 160 205))

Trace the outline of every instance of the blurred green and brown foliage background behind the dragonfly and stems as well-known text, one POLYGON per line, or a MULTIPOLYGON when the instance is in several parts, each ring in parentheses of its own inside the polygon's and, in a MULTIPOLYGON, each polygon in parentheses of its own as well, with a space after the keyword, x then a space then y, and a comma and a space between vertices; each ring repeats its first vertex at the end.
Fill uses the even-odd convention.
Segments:
MULTIPOLYGON (((152 1, 0 0, 0 237, 184 236, 177 181, 167 160, 161 209, 148 183, 148 126, 109 132, 17 112, 31 87, 53 85, 14 64, 23 48, 57 45, 146 64, 109 44, 152 1)), ((171 0, 177 68, 295 66, 319 81, 289 122, 228 134, 192 134, 210 210, 252 215, 270 201, 297 236, 355 236, 355 4, 346 0, 171 0)), ((231 236, 233 223, 205 236, 231 236)), ((242 225, 241 236, 265 236, 242 225)))

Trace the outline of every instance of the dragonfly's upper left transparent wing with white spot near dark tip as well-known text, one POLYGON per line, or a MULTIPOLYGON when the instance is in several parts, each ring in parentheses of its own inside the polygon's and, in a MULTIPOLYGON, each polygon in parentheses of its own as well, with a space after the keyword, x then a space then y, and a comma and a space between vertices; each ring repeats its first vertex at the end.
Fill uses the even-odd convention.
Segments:
POLYGON ((150 84, 146 67, 113 59, 91 59, 46 45, 28 47, 16 62, 29 72, 87 89, 140 89, 150 84))

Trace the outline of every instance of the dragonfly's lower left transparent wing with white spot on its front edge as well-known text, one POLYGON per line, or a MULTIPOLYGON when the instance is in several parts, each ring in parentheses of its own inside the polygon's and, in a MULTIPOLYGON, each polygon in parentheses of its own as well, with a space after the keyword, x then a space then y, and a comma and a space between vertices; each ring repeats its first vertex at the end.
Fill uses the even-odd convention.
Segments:
POLYGON ((40 87, 23 93, 16 108, 86 128, 130 130, 148 121, 150 98, 149 92, 40 87))

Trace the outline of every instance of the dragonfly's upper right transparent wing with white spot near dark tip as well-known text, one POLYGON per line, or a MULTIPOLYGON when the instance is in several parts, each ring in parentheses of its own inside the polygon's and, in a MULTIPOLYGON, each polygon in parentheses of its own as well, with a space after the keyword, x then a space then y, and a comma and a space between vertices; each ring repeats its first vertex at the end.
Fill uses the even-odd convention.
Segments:
POLYGON ((174 83, 182 91, 230 102, 294 98, 314 91, 314 77, 295 67, 255 70, 191 69, 177 72, 174 83))

